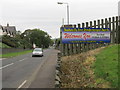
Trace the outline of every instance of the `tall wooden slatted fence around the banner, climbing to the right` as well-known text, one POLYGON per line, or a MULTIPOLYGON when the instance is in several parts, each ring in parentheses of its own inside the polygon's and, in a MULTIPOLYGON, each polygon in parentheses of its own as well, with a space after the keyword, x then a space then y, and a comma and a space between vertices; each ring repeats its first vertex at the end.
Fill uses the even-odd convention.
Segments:
MULTIPOLYGON (((62 27, 78 27, 78 28, 110 28, 111 43, 120 43, 120 16, 94 20, 78 25, 63 25, 62 27)), ((62 44, 62 31, 60 30, 60 49, 62 56, 68 56, 81 52, 86 52, 98 47, 109 45, 108 43, 87 43, 87 44, 62 44)))

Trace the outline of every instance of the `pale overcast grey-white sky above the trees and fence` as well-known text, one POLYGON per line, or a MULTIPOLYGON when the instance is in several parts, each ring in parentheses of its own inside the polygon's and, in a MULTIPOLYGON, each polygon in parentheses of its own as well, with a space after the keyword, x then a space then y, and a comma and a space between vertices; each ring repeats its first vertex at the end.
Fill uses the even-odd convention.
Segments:
POLYGON ((67 24, 69 4, 70 24, 109 18, 118 15, 120 0, 0 0, 0 24, 16 26, 17 31, 39 28, 52 38, 59 38, 64 18, 67 24))

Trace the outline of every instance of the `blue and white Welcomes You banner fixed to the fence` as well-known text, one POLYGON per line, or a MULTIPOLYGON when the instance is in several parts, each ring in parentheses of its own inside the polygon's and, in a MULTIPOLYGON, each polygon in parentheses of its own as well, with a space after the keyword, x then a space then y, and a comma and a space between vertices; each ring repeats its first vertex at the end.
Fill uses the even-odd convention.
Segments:
POLYGON ((61 28, 62 43, 110 43, 109 28, 61 28))

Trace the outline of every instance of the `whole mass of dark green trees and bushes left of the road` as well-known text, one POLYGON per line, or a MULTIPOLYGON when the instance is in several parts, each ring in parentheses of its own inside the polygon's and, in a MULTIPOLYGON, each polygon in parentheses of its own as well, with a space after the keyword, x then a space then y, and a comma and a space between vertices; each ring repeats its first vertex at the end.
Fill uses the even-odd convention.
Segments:
POLYGON ((52 44, 51 36, 39 29, 26 30, 24 33, 17 33, 16 36, 2 36, 2 42, 13 48, 33 48, 33 44, 37 47, 48 48, 52 44))

